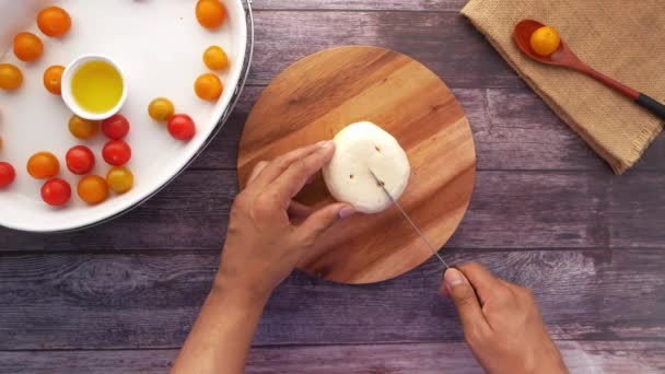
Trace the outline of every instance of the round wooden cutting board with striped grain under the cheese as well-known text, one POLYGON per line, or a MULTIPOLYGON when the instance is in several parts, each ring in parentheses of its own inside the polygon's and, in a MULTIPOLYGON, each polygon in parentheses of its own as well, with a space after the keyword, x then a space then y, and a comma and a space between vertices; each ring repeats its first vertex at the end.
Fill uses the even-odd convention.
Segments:
MULTIPOLYGON (((341 47, 308 56, 284 70, 254 106, 241 140, 241 188, 254 165, 332 137, 369 120, 406 150, 411 179, 405 210, 438 248, 453 235, 469 204, 476 152, 462 106, 436 74, 383 48, 341 47)), ((295 200, 332 202, 323 178, 295 200)), ((337 223, 298 265, 343 283, 372 283, 405 273, 432 256, 396 208, 337 223)))

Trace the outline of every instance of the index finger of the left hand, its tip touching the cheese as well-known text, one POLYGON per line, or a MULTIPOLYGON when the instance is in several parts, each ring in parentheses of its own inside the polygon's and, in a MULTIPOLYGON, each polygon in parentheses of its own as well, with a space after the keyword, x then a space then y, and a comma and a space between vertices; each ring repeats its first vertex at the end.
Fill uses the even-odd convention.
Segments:
POLYGON ((332 159, 335 143, 325 142, 313 153, 293 162, 271 185, 282 201, 291 200, 303 188, 307 179, 320 171, 332 159))

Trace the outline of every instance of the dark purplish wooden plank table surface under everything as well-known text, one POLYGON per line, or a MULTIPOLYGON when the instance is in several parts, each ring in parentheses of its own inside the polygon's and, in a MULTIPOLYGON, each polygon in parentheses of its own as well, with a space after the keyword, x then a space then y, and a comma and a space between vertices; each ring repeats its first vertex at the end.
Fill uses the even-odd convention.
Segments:
MULTIPOLYGON (((476 189, 443 256, 533 288, 574 372, 665 370, 665 140, 614 176, 459 15, 464 3, 256 0, 248 86, 187 172, 100 227, 0 230, 0 372, 167 371, 217 269, 253 103, 296 59, 350 44, 422 61, 469 117, 476 189)), ((266 308, 248 372, 478 372, 440 279, 434 259, 364 287, 296 272, 266 308)))

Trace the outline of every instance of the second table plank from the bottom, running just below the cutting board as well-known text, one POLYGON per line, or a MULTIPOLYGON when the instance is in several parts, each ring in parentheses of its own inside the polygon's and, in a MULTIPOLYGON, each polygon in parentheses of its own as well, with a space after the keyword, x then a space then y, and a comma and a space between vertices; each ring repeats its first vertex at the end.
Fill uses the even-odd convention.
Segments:
MULTIPOLYGON (((660 339, 665 257, 658 250, 463 252, 534 289, 560 340, 660 339)), ((3 256, 0 350, 177 348, 209 291, 213 254, 3 256)), ((296 272, 271 297, 255 343, 462 341, 430 260, 400 278, 349 287, 296 272)))

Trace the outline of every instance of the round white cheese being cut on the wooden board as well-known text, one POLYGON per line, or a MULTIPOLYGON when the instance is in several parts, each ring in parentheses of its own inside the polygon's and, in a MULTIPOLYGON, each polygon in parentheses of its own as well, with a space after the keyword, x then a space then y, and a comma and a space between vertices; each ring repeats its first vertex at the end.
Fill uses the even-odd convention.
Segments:
POLYGON ((390 199, 376 184, 370 170, 399 199, 409 183, 411 166, 406 152, 392 135, 372 122, 347 126, 335 136, 336 151, 324 166, 324 180, 337 200, 362 213, 377 213, 390 199))

